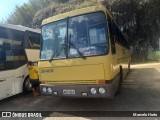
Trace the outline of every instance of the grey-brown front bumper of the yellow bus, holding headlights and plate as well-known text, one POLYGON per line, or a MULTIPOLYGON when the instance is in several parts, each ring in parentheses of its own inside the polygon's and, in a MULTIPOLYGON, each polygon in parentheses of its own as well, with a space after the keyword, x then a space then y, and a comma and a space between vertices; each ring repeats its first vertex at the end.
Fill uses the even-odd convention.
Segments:
POLYGON ((101 84, 101 85, 50 85, 50 84, 41 84, 40 91, 42 95, 49 96, 60 96, 60 97, 79 97, 79 98, 113 98, 114 90, 112 83, 101 84), (43 88, 46 88, 46 92, 43 92, 43 88), (51 92, 48 92, 48 88, 51 92), (96 88, 97 93, 92 94, 90 89, 96 88), (105 93, 99 93, 99 88, 104 88, 105 93), (66 90, 71 91, 70 93, 64 92, 66 90))

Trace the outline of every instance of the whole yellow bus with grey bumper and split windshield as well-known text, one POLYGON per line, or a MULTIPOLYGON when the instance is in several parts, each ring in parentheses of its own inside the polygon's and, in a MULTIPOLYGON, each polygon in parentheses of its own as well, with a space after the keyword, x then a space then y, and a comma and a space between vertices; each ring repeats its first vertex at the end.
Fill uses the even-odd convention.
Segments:
POLYGON ((129 43, 102 5, 42 22, 38 62, 42 95, 108 98, 130 69, 129 43))

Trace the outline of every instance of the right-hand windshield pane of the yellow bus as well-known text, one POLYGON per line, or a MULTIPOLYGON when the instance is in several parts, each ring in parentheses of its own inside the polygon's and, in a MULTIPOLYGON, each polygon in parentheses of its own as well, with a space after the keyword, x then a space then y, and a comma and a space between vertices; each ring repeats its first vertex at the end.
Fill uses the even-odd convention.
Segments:
POLYGON ((102 55, 108 51, 106 18, 103 12, 72 17, 68 26, 69 57, 102 55))

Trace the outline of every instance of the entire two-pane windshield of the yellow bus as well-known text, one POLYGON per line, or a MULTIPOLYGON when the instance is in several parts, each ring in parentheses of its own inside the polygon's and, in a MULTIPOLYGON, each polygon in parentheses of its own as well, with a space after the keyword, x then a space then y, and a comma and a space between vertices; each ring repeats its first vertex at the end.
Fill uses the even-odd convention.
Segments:
POLYGON ((105 14, 84 14, 44 25, 41 43, 41 60, 105 55, 108 53, 105 14))

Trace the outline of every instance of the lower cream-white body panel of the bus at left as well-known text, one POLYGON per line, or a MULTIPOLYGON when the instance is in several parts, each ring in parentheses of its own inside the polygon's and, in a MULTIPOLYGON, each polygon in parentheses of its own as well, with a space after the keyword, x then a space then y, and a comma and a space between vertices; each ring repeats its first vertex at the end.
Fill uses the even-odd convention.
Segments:
POLYGON ((0 72, 0 100, 21 93, 27 74, 26 65, 0 72))

